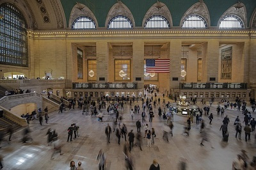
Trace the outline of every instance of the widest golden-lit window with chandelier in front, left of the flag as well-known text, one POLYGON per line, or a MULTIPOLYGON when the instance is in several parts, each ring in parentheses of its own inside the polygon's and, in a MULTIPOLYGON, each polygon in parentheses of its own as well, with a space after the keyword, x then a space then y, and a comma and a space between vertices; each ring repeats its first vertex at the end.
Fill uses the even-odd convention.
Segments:
POLYGON ((131 81, 131 59, 115 59, 115 81, 131 81), (120 70, 125 72, 124 77, 120 77, 120 70))

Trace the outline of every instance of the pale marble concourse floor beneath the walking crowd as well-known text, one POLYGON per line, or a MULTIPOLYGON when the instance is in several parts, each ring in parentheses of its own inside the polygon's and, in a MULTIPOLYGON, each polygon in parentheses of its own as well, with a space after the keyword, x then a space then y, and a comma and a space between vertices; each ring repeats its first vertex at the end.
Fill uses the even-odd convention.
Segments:
MULTIPOLYGON (((163 97, 161 97, 162 99, 163 97)), ((167 100, 167 99, 166 99, 167 100)), ((167 100, 168 101, 168 100, 167 100)), ((166 102, 167 102, 166 101, 166 102)), ((170 102, 173 102, 170 100, 170 102)), ((135 102, 141 106, 141 102, 135 102)), ((125 104, 123 114, 124 123, 127 125, 128 132, 133 129, 136 133, 136 121, 141 119, 141 114, 134 115, 134 120, 131 120, 130 109, 134 107, 125 104)), ((198 104, 204 107, 202 104, 198 104)), ((248 151, 250 159, 255 154, 255 133, 252 133, 252 140, 247 143, 244 141, 244 133, 242 140, 236 139, 235 128, 233 126, 237 115, 243 120, 242 111, 234 111, 230 109, 225 110, 230 118, 228 131, 230 134, 228 143, 221 141, 220 127, 223 118, 216 116, 216 104, 212 105, 210 112, 213 113, 214 119, 212 125, 209 125, 207 116, 203 116, 207 127, 209 127, 209 139, 211 144, 204 142, 205 146, 200 146, 201 135, 199 127, 196 123, 192 123, 189 136, 182 134, 184 122, 186 118, 174 116, 173 137, 169 136, 170 143, 163 140, 163 125, 166 122, 157 116, 157 108, 154 108, 156 114, 152 123, 148 123, 149 127, 154 127, 156 130, 155 144, 151 148, 147 147, 147 140, 143 139, 143 151, 134 146, 132 150, 132 158, 134 169, 146 170, 149 169, 150 164, 154 158, 157 159, 162 170, 179 169, 178 165, 181 158, 186 159, 188 169, 232 169, 232 160, 240 153, 241 149, 248 151)), ((163 108, 163 105, 161 104, 163 108)), ((107 156, 107 169, 122 170, 125 169, 125 157, 122 153, 124 146, 124 139, 121 138, 121 144, 118 145, 117 137, 111 134, 110 144, 106 141, 104 133, 107 123, 111 126, 115 115, 106 114, 104 112, 103 121, 98 121, 97 118, 86 116, 82 114, 79 109, 58 112, 52 112, 49 116, 49 123, 42 126, 39 125, 38 120, 31 121, 31 136, 32 143, 20 143, 22 137, 22 130, 15 132, 12 137, 12 142, 7 144, 1 143, 0 155, 3 157, 3 169, 70 169, 69 164, 71 160, 76 162, 81 161, 84 169, 98 169, 98 161, 96 160, 99 150, 102 149, 107 156), (79 137, 74 139, 72 143, 67 143, 67 129, 72 123, 79 126, 79 137), (56 129, 63 143, 63 155, 56 154, 51 160, 53 152, 52 146, 47 145, 47 130, 48 128, 56 129)), ((252 114, 253 117, 255 113, 252 114)), ((147 118, 148 121, 148 118, 147 118)), ((243 124, 244 127, 244 124, 243 124)), ((73 135, 74 136, 74 135, 73 135)))

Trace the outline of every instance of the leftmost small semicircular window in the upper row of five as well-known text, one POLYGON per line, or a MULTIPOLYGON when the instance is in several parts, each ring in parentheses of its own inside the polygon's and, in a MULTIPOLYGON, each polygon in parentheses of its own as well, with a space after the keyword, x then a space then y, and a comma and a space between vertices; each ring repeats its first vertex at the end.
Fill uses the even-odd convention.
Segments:
POLYGON ((96 29, 96 24, 94 20, 92 20, 90 17, 83 16, 74 20, 71 29, 76 29, 76 30, 96 29))

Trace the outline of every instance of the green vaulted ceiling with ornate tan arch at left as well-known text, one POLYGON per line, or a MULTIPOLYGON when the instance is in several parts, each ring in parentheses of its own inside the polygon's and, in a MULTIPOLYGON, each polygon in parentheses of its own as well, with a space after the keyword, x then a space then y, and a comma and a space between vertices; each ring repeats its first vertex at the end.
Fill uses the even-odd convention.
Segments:
MULTIPOLYGON (((200 0, 202 1, 202 0, 200 0)), ((123 0, 122 3, 131 11, 135 27, 142 27, 143 19, 155 0, 123 0)), ((162 0, 172 15, 173 27, 180 26, 180 20, 191 6, 198 0, 162 0)), ((97 19, 99 27, 106 26, 109 10, 117 3, 116 0, 1 0, 2 3, 12 3, 24 14, 31 29, 70 29, 69 19, 72 9, 77 3, 83 4, 97 19)), ((209 11, 211 27, 218 26, 218 21, 228 8, 237 4, 237 0, 205 0, 209 11)), ((256 1, 241 0, 244 4, 247 27, 255 22, 256 27, 256 1)), ((234 8, 236 11, 237 8, 234 8)), ((253 25, 253 24, 252 24, 253 25)))

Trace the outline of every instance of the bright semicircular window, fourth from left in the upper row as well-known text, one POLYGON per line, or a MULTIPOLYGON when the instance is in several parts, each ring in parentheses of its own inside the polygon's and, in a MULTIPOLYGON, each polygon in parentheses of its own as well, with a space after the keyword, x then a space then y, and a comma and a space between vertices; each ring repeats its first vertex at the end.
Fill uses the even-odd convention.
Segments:
POLYGON ((189 15, 182 23, 184 29, 206 29, 207 22, 203 17, 199 15, 189 15))

